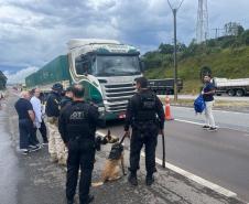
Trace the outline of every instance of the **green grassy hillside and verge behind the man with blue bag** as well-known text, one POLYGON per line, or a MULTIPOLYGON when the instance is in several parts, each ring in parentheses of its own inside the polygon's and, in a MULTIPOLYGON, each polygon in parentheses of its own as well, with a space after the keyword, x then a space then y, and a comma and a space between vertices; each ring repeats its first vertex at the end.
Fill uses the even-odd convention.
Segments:
MULTIPOLYGON (((178 78, 183 79, 182 94, 197 94, 202 86, 199 72, 203 66, 212 68, 213 76, 226 78, 249 77, 249 46, 225 49, 217 53, 196 55, 178 62, 178 78)), ((148 69, 148 78, 174 77, 173 64, 148 69)))

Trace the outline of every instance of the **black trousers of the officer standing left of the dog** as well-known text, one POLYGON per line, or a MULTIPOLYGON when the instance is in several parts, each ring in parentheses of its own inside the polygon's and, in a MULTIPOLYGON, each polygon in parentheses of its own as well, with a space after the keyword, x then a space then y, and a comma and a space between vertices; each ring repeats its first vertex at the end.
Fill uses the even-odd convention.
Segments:
POLYGON ((95 161, 95 142, 88 139, 75 138, 68 142, 66 197, 73 200, 80 167, 79 201, 86 203, 91 184, 91 173, 95 161))

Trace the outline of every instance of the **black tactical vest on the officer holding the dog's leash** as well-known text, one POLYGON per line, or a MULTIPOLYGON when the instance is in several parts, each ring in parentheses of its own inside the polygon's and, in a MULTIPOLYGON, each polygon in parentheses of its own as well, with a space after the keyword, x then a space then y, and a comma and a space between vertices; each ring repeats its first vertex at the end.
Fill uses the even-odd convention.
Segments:
POLYGON ((155 95, 154 93, 139 93, 139 107, 134 118, 136 121, 155 121, 155 95))

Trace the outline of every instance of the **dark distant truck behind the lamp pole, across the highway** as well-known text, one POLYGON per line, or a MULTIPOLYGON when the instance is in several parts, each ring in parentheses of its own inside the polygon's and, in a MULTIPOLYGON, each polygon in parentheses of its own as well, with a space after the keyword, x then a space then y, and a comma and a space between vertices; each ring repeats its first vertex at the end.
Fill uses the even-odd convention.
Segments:
MULTIPOLYGON (((174 78, 163 79, 149 79, 149 88, 158 95, 172 95, 174 94, 174 78)), ((183 80, 177 79, 177 89, 183 89, 183 80)))

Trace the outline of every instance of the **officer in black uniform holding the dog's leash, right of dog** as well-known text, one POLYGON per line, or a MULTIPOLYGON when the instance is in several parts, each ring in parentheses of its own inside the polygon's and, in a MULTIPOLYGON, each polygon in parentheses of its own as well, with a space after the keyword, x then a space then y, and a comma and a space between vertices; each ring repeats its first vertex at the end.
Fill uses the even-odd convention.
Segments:
POLYGON ((132 127, 130 141, 130 175, 128 181, 138 185, 137 170, 139 169, 140 152, 145 146, 147 185, 154 182, 155 148, 159 131, 164 128, 163 105, 158 96, 148 89, 145 77, 136 79, 138 93, 130 99, 126 114, 124 131, 129 135, 129 126, 132 127))

